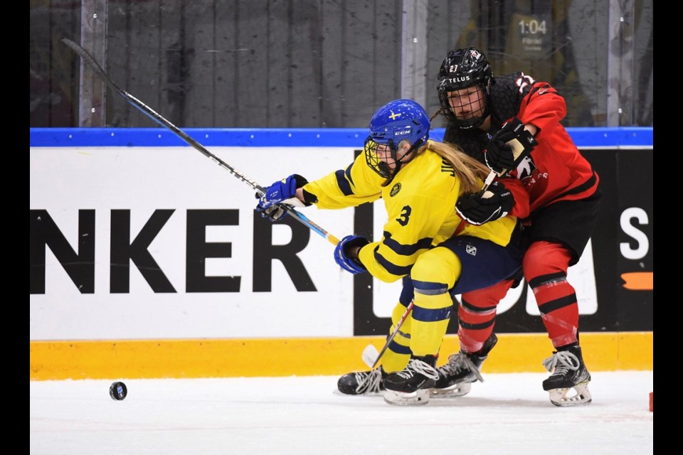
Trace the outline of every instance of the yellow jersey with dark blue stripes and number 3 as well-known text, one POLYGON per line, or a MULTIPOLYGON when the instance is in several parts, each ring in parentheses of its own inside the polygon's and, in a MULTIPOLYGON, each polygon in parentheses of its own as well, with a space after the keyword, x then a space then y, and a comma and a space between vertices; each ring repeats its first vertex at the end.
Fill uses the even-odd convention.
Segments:
MULTIPOLYGON (((482 182, 483 185, 483 182, 482 182)), ((460 180, 452 165, 429 148, 418 154, 386 184, 360 154, 346 170, 307 183, 317 207, 338 209, 382 198, 387 222, 381 240, 359 252, 368 272, 383 282, 410 273, 418 256, 453 235, 470 235, 506 246, 517 218, 506 216, 484 225, 466 223, 457 215, 460 180)))

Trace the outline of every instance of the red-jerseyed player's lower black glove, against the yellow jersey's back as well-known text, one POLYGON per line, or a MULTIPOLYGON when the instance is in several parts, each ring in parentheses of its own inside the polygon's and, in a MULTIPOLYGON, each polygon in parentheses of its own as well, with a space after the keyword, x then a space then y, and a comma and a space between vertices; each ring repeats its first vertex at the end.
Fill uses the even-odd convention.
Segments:
POLYGON ((493 182, 483 195, 462 195, 455 203, 460 218, 471 225, 482 225, 507 215, 514 205, 512 193, 500 182, 493 182))

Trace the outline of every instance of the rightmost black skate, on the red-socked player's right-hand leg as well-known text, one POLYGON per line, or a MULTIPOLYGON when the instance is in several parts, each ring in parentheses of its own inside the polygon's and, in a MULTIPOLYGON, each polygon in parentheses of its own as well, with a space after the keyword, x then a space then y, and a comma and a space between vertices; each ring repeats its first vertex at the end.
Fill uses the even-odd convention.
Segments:
POLYGON ((553 355, 543 361, 543 366, 551 372, 550 377, 543 381, 543 390, 550 393, 550 402, 553 405, 587 405, 593 400, 591 392, 588 391, 591 374, 583 363, 581 346, 558 348, 553 355), (570 389, 576 393, 568 397, 570 389))

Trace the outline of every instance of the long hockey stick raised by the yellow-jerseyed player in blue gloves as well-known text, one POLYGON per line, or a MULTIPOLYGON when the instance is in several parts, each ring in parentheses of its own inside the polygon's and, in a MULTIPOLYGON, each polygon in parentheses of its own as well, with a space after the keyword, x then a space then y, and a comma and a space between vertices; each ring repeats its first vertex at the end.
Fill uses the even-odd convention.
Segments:
MULTIPOLYGON (((130 105, 139 109, 143 114, 147 115, 147 117, 154 120, 154 122, 157 122, 158 124, 162 125, 162 127, 170 129, 171 132, 174 132, 174 134, 176 134, 176 136, 186 141, 188 144, 193 146, 194 149, 200 151, 204 156, 216 162, 218 166, 221 166, 222 168, 226 169, 228 172, 233 174, 233 176, 239 178, 241 181, 243 181, 248 186, 253 188, 253 190, 255 190, 259 195, 263 195, 263 193, 265 193, 265 188, 263 188, 263 186, 258 185, 250 178, 247 178, 247 176, 245 176, 243 173, 233 168, 233 166, 230 166, 225 161, 218 158, 218 156, 212 154, 203 145, 199 144, 198 141, 192 139, 184 131, 182 131, 174 124, 166 120, 164 117, 162 117, 161 114, 154 111, 154 109, 145 105, 144 102, 138 100, 129 92, 126 92, 121 87, 116 85, 115 82, 107 75, 107 73, 105 73, 105 70, 102 70, 102 67, 95 61, 94 58, 92 58, 92 55, 90 55, 87 50, 83 49, 80 45, 74 43, 68 38, 62 38, 62 42, 65 45, 68 45, 75 53, 80 55, 80 58, 83 58, 85 65, 88 65, 88 68, 90 68, 97 75, 97 77, 100 77, 100 79, 102 79, 102 81, 104 81, 105 84, 107 84, 112 90, 121 95, 123 99, 126 100, 130 105)), ((309 220, 307 216, 295 210, 295 208, 293 208, 292 205, 280 204, 280 206, 284 208, 289 215, 294 217, 296 220, 300 221, 300 223, 305 225, 307 228, 313 230, 314 232, 317 232, 317 234, 329 240, 329 242, 333 245, 337 245, 337 243, 339 243, 339 239, 337 237, 334 237, 334 235, 327 232, 327 230, 324 230, 319 225, 313 223, 311 220, 309 220)))

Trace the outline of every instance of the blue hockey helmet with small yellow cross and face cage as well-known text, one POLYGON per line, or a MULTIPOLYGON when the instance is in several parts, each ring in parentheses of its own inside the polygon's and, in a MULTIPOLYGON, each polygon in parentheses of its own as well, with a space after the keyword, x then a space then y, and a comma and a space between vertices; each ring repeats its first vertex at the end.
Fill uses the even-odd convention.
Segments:
POLYGON ((401 168, 403 159, 426 144, 430 122, 425 109, 413 100, 393 100, 383 105, 370 119, 370 134, 365 141, 365 159, 373 171, 384 178, 392 178, 401 168), (397 156, 399 144, 408 141, 411 149, 397 156), (396 166, 389 166, 376 153, 377 147, 388 146, 396 166))

